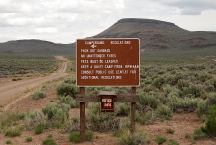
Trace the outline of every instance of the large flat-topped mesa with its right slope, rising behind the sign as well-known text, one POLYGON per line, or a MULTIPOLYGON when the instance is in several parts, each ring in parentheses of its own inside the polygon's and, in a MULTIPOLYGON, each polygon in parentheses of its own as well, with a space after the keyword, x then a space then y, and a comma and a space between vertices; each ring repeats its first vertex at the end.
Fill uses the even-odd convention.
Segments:
POLYGON ((216 47, 216 32, 191 32, 173 23, 152 19, 121 19, 93 37, 140 38, 143 51, 216 47))

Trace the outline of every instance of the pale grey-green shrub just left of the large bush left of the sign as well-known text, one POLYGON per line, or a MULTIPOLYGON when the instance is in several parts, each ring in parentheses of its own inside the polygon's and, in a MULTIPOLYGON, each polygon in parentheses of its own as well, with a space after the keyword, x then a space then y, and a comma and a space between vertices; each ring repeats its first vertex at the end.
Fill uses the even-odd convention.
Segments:
POLYGON ((47 125, 46 116, 42 112, 32 111, 25 116, 26 129, 35 129, 39 124, 47 125))

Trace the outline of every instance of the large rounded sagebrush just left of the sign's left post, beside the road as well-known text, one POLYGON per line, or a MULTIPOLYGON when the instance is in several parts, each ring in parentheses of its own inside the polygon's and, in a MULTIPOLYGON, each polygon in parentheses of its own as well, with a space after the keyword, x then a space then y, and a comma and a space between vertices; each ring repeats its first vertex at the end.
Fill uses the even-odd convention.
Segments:
POLYGON ((69 117, 70 106, 68 104, 49 103, 42 112, 53 127, 61 127, 69 117))

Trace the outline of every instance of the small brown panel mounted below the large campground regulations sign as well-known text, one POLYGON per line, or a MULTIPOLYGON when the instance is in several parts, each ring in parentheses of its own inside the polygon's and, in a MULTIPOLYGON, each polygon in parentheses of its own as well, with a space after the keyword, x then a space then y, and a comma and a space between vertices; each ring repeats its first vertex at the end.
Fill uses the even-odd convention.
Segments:
POLYGON ((114 96, 101 96, 101 111, 114 112, 114 96))

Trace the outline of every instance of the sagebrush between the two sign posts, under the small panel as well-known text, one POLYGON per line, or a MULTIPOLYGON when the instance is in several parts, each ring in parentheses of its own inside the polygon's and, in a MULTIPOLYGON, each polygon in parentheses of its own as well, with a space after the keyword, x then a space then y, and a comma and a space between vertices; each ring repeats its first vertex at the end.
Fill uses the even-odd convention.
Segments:
POLYGON ((115 131, 119 128, 119 118, 112 112, 100 112, 100 105, 93 103, 88 106, 89 127, 96 131, 115 131))

